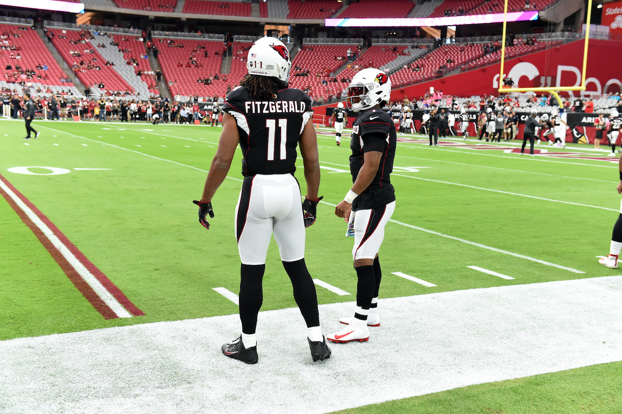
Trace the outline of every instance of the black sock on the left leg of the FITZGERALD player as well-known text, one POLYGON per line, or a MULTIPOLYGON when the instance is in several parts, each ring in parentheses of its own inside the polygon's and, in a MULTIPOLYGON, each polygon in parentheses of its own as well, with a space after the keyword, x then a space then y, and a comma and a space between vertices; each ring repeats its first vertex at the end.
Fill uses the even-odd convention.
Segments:
POLYGON ((257 315, 264 301, 261 282, 265 270, 265 264, 242 264, 240 270, 239 319, 242 321, 242 332, 245 334, 254 334, 257 329, 257 315))

